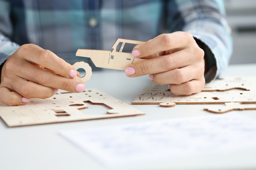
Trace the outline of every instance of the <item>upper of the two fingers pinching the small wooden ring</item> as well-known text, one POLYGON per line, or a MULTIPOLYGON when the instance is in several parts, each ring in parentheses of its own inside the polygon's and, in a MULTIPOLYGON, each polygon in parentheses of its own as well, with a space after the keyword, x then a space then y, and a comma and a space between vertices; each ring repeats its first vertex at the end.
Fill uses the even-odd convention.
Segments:
POLYGON ((52 51, 42 49, 34 44, 24 44, 20 46, 16 53, 24 60, 39 64, 64 77, 76 77, 76 70, 52 51), (36 51, 36 53, 31 53, 31 51, 36 51))

